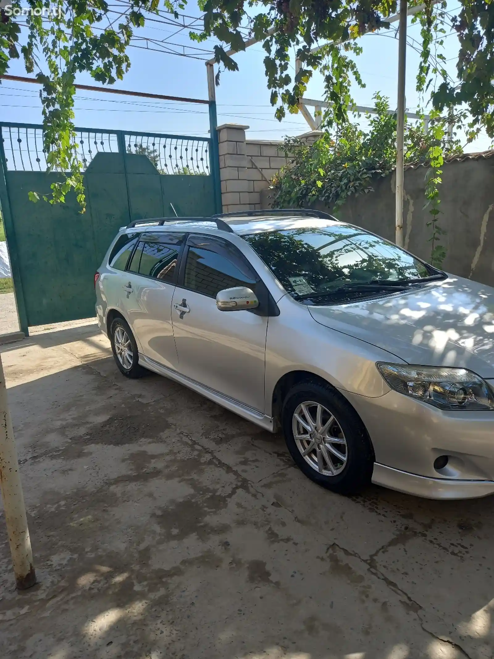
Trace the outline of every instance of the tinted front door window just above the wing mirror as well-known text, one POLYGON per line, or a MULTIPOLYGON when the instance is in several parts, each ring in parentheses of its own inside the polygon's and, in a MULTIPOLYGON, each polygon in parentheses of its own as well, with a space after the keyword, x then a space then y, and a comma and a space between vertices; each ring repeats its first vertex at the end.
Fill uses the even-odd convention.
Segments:
POLYGON ((186 288, 214 298, 219 291, 234 286, 256 291, 255 275, 236 254, 233 245, 209 242, 207 247, 189 247, 184 273, 186 288))

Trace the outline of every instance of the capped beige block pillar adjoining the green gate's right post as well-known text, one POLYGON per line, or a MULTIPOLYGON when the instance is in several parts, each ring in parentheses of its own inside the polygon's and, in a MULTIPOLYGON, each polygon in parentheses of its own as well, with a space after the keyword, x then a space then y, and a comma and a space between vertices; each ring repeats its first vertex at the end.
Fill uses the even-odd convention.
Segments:
POLYGON ((239 124, 223 124, 217 127, 223 213, 254 208, 251 208, 249 195, 253 190, 252 181, 246 181, 245 177, 247 129, 248 126, 239 124))

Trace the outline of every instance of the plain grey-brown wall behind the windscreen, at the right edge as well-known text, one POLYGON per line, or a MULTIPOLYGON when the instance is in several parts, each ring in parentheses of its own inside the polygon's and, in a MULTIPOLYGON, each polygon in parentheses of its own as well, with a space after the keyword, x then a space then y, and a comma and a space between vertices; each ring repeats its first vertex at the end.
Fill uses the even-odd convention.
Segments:
MULTIPOLYGON (((439 188, 439 226, 445 231, 443 268, 466 279, 494 286, 494 150, 464 154, 443 164, 439 188)), ((430 262, 431 220, 425 203, 424 165, 406 167, 404 175, 403 233, 406 250, 430 262)), ((368 229, 395 242, 395 172, 372 181, 372 192, 352 194, 336 210, 316 202, 344 222, 368 229)), ((261 208, 271 208, 272 190, 261 193, 261 208)), ((494 336, 494 335, 493 335, 494 336)))

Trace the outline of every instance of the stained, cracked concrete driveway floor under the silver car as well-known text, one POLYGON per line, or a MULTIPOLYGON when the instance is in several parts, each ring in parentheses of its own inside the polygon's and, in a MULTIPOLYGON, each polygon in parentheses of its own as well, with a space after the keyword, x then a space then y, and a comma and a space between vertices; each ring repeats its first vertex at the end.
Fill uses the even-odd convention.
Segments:
POLYGON ((2 520, 3 659, 493 656, 493 498, 327 492, 92 324, 2 358, 40 581, 14 590, 2 520))

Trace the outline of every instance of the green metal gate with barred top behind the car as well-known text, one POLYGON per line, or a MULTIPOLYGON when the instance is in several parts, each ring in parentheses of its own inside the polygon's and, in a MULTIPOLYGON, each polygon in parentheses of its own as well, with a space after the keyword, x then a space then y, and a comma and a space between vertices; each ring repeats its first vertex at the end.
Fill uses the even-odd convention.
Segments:
MULTIPOLYGON (((211 140, 76 129, 86 213, 34 204, 61 175, 47 172, 41 126, 0 124, 0 202, 20 328, 94 315, 94 272, 119 227, 146 217, 221 212, 211 140)), ((213 145, 215 146, 215 145, 213 145)))

